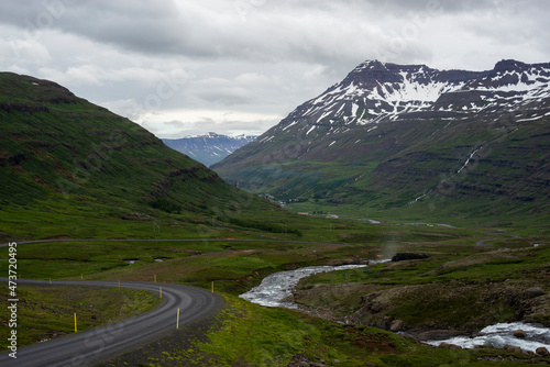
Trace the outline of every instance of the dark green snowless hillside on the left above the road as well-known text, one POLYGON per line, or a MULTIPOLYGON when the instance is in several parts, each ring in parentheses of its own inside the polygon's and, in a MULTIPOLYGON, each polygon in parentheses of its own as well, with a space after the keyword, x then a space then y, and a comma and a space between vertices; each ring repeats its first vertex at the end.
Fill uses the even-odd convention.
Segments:
POLYGON ((196 236, 212 218, 276 210, 52 81, 0 73, 0 237, 9 241, 150 236, 142 222, 153 220, 196 236))

